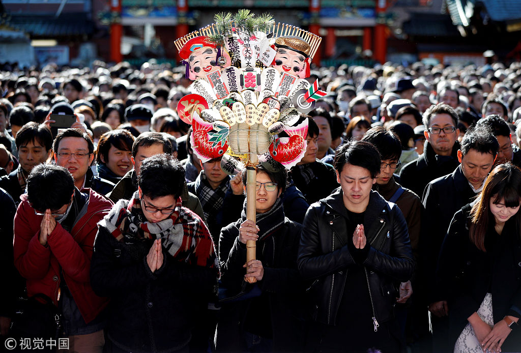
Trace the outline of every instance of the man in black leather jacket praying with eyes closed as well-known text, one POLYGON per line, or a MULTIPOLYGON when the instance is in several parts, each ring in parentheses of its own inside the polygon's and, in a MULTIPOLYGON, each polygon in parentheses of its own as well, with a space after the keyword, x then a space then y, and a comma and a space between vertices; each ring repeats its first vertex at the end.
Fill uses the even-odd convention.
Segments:
POLYGON ((402 212, 371 191, 380 163, 368 142, 340 147, 341 186, 304 218, 297 261, 302 277, 314 281, 309 346, 316 351, 400 351, 393 306, 414 260, 402 212))

